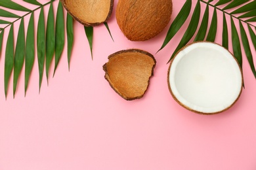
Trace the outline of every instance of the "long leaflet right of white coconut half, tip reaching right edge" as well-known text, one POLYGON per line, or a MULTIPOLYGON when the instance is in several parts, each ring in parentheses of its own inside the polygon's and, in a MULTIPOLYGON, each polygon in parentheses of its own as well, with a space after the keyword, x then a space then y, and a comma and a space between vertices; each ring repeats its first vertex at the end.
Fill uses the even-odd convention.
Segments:
POLYGON ((247 59, 249 61, 251 71, 253 72, 253 75, 256 78, 256 71, 255 71, 255 67, 254 67, 254 64, 253 64, 253 55, 251 54, 249 41, 248 41, 247 35, 245 33, 244 26, 243 26, 241 21, 239 22, 239 25, 240 25, 240 33, 241 33, 241 39, 242 39, 243 46, 244 46, 244 51, 245 51, 245 54, 246 54, 247 59))

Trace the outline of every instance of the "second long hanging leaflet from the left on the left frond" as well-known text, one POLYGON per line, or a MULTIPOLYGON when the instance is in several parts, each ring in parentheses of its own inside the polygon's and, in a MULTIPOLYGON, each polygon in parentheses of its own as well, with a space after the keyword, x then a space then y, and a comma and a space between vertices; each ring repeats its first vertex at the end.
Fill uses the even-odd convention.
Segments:
POLYGON ((16 92, 18 77, 24 63, 25 56, 25 31, 24 31, 24 19, 20 21, 20 28, 18 30, 18 37, 14 55, 14 75, 13 75, 13 97, 16 92))

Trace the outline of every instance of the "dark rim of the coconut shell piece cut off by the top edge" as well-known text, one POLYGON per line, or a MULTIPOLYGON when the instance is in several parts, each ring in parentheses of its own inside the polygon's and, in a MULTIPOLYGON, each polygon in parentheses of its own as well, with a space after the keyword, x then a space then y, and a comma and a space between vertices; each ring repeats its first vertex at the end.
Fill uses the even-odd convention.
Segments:
POLYGON ((66 1, 75 1, 75 0, 60 0, 63 7, 66 9, 66 11, 75 19, 77 20, 77 22, 79 22, 80 24, 85 25, 86 27, 94 27, 97 25, 100 25, 104 22, 107 22, 108 19, 110 18, 110 16, 112 15, 112 11, 113 11, 113 7, 114 7, 114 0, 110 0, 110 9, 108 11, 108 16, 106 17, 106 19, 103 22, 95 22, 95 23, 89 23, 89 22, 85 22, 83 20, 81 20, 78 16, 76 16, 68 7, 68 5, 66 4, 66 1))

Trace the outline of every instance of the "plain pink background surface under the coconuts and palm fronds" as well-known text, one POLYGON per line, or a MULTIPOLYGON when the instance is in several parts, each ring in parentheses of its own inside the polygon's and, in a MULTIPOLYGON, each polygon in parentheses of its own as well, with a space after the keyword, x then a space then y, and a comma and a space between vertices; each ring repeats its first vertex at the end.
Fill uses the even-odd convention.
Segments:
MULTIPOLYGON (((183 3, 184 0, 173 0, 172 20, 183 3)), ((54 10, 57 4, 54 2, 54 10)), ((116 5, 117 1, 114 10, 116 5)), ((48 8, 45 7, 45 14, 48 8)), ((38 15, 39 11, 35 12, 35 22, 38 15)), ((26 24, 28 19, 25 18, 26 24)), ((221 23, 220 19, 219 30, 221 23)), ((168 27, 150 41, 131 42, 119 30, 115 12, 108 25, 114 42, 104 25, 95 27, 92 61, 83 26, 75 22, 70 71, 65 48, 49 86, 44 75, 40 94, 35 61, 26 97, 23 69, 15 99, 11 83, 5 101, 3 50, 0 170, 256 169, 256 82, 245 56, 245 89, 238 102, 226 112, 203 116, 178 105, 167 87, 166 63, 184 29, 156 54, 168 27), (125 101, 117 95, 102 70, 110 54, 128 48, 147 50, 157 61, 146 95, 135 101, 125 101)), ((187 25, 188 22, 184 26, 187 25)), ((14 31, 18 32, 18 26, 14 31)), ((221 31, 217 42, 221 43, 221 31)), ((53 75, 53 64, 50 74, 53 75)))

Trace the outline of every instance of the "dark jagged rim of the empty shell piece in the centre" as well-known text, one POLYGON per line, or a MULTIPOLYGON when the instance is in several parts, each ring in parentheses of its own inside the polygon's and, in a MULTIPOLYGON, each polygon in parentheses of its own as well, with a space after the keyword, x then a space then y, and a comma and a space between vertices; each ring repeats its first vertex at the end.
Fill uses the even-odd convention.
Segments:
POLYGON ((123 53, 127 53, 127 52, 138 52, 138 53, 141 53, 141 54, 145 54, 146 56, 150 57, 153 59, 154 61, 154 65, 152 66, 152 70, 151 70, 151 75, 149 76, 148 78, 148 85, 146 87, 146 90, 144 91, 144 93, 142 93, 142 95, 140 96, 136 96, 136 97, 126 97, 125 95, 123 95, 122 93, 118 92, 118 90, 116 88, 114 88, 114 86, 112 85, 112 83, 110 83, 110 80, 108 80, 107 78, 107 75, 108 75, 108 69, 107 69, 107 63, 106 62, 104 65, 103 65, 103 70, 105 71, 105 75, 104 75, 104 78, 108 81, 108 83, 110 84, 111 88, 117 93, 119 94, 123 99, 127 100, 127 101, 131 101, 131 100, 135 100, 135 99, 140 99, 144 96, 144 94, 146 93, 146 91, 148 90, 148 86, 150 84, 150 78, 154 75, 154 68, 156 67, 156 59, 154 58, 154 56, 152 54, 150 54, 149 52, 146 52, 144 50, 140 50, 140 49, 137 49, 137 48, 132 48, 132 49, 128 49, 128 50, 119 50, 113 54, 110 54, 110 56, 108 56, 108 59, 111 59, 111 58, 114 58, 116 55, 118 54, 123 54, 123 53))

